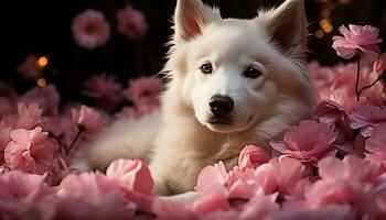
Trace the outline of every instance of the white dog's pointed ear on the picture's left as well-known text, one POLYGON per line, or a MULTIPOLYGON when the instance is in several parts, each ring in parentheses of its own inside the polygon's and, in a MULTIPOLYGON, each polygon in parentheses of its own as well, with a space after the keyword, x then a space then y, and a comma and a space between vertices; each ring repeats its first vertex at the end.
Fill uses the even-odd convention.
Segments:
POLYGON ((174 12, 173 44, 187 42, 200 35, 202 29, 221 20, 219 11, 206 7, 202 0, 178 0, 174 12))

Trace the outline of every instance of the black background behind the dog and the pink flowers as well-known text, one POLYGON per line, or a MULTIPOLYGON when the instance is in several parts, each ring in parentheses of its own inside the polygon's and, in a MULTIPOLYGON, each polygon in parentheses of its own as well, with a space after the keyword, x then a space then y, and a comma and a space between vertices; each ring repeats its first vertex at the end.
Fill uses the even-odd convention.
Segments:
MULTIPOLYGON (((204 0, 205 1, 205 0, 204 0)), ((304 0, 310 22, 309 59, 324 65, 341 62, 331 48, 331 37, 341 24, 371 24, 380 30, 385 38, 385 0, 304 0), (321 12, 328 9, 332 33, 317 38, 321 12)), ((221 8, 224 18, 253 18, 259 7, 277 6, 282 0, 206 0, 221 8)), ((50 68, 58 74, 49 76, 47 82, 57 86, 62 98, 77 99, 83 80, 94 74, 106 73, 117 77, 124 86, 129 78, 157 74, 164 63, 164 44, 171 35, 171 18, 175 0, 79 0, 79 1, 2 1, 0 8, 0 79, 19 92, 35 84, 17 73, 28 54, 46 55, 50 68), (127 4, 141 10, 149 23, 144 37, 130 41, 116 31, 116 12, 127 4), (78 47, 72 38, 73 18, 86 9, 101 11, 111 26, 111 37, 99 48, 78 47)), ((385 48, 385 44, 382 44, 385 48)))

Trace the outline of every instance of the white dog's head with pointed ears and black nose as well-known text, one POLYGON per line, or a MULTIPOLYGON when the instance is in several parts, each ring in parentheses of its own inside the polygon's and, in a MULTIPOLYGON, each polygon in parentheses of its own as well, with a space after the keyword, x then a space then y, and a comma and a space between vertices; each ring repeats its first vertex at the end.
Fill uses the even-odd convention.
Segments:
POLYGON ((175 97, 210 130, 248 130, 283 100, 312 102, 304 95, 310 82, 302 0, 287 0, 253 20, 222 19, 201 0, 178 0, 174 22, 171 87, 179 87, 175 97))

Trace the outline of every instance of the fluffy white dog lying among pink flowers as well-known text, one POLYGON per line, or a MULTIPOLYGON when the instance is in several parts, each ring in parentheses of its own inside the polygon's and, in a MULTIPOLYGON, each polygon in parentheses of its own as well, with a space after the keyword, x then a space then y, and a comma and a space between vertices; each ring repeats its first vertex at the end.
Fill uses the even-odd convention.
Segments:
POLYGON ((99 168, 119 157, 149 160, 161 195, 193 189, 200 170, 218 161, 232 168, 247 144, 268 151, 314 105, 302 0, 253 20, 222 19, 201 0, 178 0, 174 21, 160 112, 118 121, 89 154, 99 168))

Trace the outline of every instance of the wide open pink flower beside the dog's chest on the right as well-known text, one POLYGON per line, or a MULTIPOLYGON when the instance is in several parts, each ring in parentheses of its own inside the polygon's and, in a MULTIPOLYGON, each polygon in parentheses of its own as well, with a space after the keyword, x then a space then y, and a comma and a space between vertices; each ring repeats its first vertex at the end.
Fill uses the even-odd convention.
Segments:
POLYGON ((287 131, 283 141, 272 141, 270 145, 285 156, 315 163, 333 151, 335 140, 336 134, 328 124, 305 120, 287 131))

